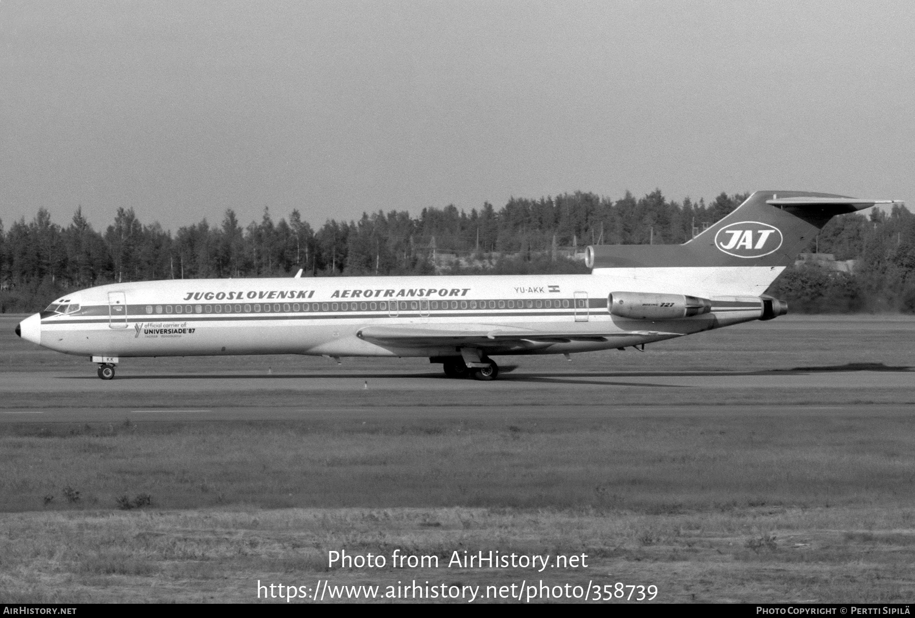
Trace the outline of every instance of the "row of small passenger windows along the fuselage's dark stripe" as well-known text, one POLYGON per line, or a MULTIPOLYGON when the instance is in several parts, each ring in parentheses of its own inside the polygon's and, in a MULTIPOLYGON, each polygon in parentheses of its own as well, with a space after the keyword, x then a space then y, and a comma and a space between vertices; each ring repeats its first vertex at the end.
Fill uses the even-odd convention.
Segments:
POLYGON ((246 304, 147 304, 147 314, 259 314, 339 311, 449 311, 474 309, 568 309, 568 299, 529 301, 381 301, 378 303, 246 303, 246 304))

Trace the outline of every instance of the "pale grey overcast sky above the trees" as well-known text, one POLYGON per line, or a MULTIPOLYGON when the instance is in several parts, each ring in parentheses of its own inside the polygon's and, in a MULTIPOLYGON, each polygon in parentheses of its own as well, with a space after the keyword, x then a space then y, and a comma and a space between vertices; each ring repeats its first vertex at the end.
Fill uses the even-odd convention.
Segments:
POLYGON ((0 2, 0 218, 915 200, 915 3, 0 2))

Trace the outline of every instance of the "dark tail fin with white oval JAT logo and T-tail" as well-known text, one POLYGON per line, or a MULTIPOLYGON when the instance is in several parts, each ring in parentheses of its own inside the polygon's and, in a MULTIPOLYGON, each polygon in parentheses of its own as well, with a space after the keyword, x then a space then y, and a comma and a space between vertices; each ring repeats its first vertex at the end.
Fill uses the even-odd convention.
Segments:
POLYGON ((835 215, 899 201, 807 191, 757 191, 682 245, 597 245, 590 268, 788 266, 835 215))

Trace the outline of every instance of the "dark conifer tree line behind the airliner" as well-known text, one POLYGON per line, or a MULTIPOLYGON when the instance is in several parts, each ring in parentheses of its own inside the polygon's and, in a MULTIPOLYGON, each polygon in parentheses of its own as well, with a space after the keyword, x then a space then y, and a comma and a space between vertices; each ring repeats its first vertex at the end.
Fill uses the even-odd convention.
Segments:
MULTIPOLYGON (((219 225, 163 229, 133 208, 92 228, 77 208, 66 227, 39 208, 5 229, 0 221, 0 312, 36 311, 70 290, 110 282, 211 277, 350 276, 436 273, 587 272, 576 252, 588 244, 675 244, 726 216, 748 194, 712 202, 668 200, 660 190, 612 200, 576 192, 512 197, 469 212, 454 205, 379 210, 358 220, 328 219, 318 229, 297 210, 268 208, 245 227, 229 209, 219 225)), ((814 240, 837 260, 858 260, 854 274, 791 268, 771 293, 792 310, 915 312, 915 217, 905 208, 870 218, 834 218, 814 240)))

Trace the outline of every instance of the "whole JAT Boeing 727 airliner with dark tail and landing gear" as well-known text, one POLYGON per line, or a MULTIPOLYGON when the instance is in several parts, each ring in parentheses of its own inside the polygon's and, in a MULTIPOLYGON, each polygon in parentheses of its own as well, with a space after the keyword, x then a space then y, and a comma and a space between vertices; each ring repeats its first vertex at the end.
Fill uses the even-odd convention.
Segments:
POLYGON ((492 357, 572 354, 770 320, 765 295, 834 215, 893 204, 758 191, 683 245, 587 248, 591 274, 198 279, 68 293, 16 334, 85 356, 102 379, 128 357, 429 357, 490 380, 492 357))

